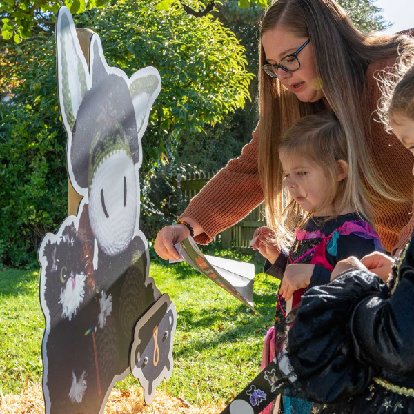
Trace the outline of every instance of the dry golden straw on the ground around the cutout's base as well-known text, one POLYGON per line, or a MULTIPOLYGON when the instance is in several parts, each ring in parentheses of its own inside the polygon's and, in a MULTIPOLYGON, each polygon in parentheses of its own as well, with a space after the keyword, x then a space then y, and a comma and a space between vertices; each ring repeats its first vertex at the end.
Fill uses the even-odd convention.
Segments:
MULTIPOLYGON (((219 414, 223 408, 224 404, 193 406, 182 398, 171 397, 161 391, 157 391, 155 400, 146 406, 142 388, 130 386, 128 390, 112 390, 103 414, 219 414)), ((32 384, 17 395, 1 393, 0 413, 44 414, 41 386, 32 384)))

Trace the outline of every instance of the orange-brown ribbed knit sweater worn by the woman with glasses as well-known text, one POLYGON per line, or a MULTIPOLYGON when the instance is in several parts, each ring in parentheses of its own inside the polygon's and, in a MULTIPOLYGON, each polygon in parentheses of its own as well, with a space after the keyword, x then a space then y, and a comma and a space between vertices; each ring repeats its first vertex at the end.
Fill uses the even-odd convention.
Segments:
MULTIPOLYGON (((369 66, 366 76, 370 105, 364 110, 364 117, 367 120, 366 128, 371 128, 374 159, 380 172, 392 188, 411 195, 414 157, 395 135, 389 135, 382 124, 375 121, 375 110, 381 92, 373 75, 377 70, 390 67, 393 63, 395 60, 371 63, 369 66)), ((263 201, 257 168, 257 135, 257 132, 253 132, 253 139, 244 146, 242 155, 230 160, 191 200, 181 215, 192 218, 203 228, 204 233, 195 237, 197 243, 207 244, 217 233, 233 226, 263 201)), ((408 241, 414 226, 411 211, 411 203, 396 203, 384 198, 373 203, 377 233, 386 250, 402 248, 408 241)))

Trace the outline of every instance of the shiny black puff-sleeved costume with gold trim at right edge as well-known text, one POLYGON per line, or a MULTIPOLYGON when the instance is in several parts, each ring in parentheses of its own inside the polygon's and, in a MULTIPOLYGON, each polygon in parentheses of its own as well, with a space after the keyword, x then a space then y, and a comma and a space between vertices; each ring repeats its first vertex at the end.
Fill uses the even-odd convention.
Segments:
POLYGON ((344 273, 308 290, 277 333, 300 382, 295 394, 335 403, 319 413, 414 413, 413 237, 391 280, 344 273))

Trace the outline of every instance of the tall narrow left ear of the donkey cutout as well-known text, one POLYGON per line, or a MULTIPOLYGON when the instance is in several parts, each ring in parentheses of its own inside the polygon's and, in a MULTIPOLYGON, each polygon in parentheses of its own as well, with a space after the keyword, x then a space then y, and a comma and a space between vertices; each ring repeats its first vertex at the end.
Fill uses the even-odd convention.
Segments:
POLYGON ((72 133, 77 112, 90 88, 88 65, 77 38, 75 24, 67 7, 59 9, 56 21, 57 85, 63 124, 72 133))

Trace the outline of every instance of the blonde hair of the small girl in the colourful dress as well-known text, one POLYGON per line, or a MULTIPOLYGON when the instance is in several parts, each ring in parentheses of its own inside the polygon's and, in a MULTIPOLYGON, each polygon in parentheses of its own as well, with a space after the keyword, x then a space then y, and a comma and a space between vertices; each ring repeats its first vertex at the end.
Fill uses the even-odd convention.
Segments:
MULTIPOLYGON (((336 217, 344 209, 351 207, 362 219, 373 224, 369 213, 369 203, 366 190, 359 175, 353 175, 337 181, 337 161, 344 160, 349 165, 348 147, 341 124, 331 114, 308 115, 296 121, 280 139, 279 150, 288 157, 303 157, 312 161, 324 170, 326 186, 331 195, 322 208, 331 207, 336 217), (348 198, 351 194, 351 199, 348 198)), ((357 163, 357 161, 355 161, 357 163)), ((282 166, 280 175, 283 177, 282 166)), ((312 217, 313 212, 305 212, 300 205, 290 197, 284 182, 280 180, 276 188, 277 239, 285 248, 293 240, 296 228, 302 228, 312 217)))

